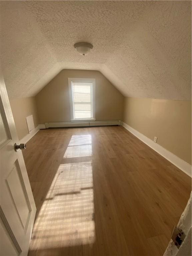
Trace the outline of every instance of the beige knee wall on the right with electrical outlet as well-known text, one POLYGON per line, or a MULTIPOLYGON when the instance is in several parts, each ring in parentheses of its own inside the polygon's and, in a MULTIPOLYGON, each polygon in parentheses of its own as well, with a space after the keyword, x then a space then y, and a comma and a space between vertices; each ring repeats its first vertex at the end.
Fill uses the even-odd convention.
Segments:
POLYGON ((191 101, 126 97, 123 121, 191 164, 191 101))

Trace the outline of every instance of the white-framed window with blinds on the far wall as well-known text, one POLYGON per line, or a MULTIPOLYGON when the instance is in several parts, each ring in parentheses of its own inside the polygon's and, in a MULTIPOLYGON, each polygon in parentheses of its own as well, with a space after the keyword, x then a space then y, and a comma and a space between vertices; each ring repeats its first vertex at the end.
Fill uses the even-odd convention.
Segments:
POLYGON ((95 120, 95 79, 68 78, 71 120, 95 120))

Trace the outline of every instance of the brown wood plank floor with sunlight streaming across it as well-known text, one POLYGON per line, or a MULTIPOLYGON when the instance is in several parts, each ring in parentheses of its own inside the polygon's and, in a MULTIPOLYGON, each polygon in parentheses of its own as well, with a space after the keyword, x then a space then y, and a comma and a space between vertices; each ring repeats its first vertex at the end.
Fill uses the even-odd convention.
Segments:
POLYGON ((28 255, 163 255, 191 191, 122 126, 40 130, 23 156, 37 207, 28 255))

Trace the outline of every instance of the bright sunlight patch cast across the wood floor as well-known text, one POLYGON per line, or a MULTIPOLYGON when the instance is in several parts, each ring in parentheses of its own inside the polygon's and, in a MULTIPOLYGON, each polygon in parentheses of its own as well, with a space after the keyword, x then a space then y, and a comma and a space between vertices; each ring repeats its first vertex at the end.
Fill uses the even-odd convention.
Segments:
MULTIPOLYGON (((91 135, 72 136, 64 158, 90 156, 91 135), (78 147, 78 150, 77 150, 78 147), (68 149, 69 148, 69 149, 68 149)), ((90 159, 61 163, 34 224, 39 249, 93 244, 93 174, 90 159)))

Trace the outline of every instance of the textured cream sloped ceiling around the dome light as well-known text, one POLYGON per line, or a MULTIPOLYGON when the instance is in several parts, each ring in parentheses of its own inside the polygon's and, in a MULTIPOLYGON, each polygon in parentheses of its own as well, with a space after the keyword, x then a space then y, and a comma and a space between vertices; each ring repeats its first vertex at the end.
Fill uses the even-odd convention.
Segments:
POLYGON ((191 99, 191 1, 1 1, 10 98, 64 68, 102 72, 124 96, 191 99), (85 57, 73 44, 93 44, 85 57))

